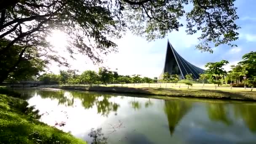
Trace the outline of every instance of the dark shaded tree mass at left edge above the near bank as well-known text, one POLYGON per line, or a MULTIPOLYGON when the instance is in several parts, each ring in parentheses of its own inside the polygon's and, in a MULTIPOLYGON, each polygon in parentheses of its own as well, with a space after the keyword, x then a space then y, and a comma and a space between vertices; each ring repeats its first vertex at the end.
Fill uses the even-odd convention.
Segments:
MULTIPOLYGON (((0 40, 0 46, 3 47, 8 42, 0 40)), ((30 53, 23 52, 20 55, 22 47, 19 45, 12 45, 6 51, 5 56, 0 59, 0 80, 33 80, 32 77, 39 76, 44 71, 47 61, 37 58, 37 51, 33 47, 27 48, 27 51, 30 53)))

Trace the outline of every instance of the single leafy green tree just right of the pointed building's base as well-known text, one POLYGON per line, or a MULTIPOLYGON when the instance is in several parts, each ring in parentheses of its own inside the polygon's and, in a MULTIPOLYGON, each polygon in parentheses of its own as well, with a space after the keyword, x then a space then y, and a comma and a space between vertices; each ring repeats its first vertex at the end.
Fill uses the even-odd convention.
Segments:
POLYGON ((227 75, 223 66, 228 63, 228 61, 222 60, 219 62, 208 62, 205 64, 205 67, 208 67, 205 74, 211 75, 209 78, 212 83, 218 84, 218 86, 221 84, 220 79, 223 78, 224 75, 227 75))

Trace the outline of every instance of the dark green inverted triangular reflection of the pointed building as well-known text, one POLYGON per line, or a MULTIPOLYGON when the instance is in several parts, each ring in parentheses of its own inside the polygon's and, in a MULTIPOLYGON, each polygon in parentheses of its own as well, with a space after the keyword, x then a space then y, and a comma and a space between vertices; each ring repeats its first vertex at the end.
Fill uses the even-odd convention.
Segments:
POLYGON ((169 131, 171 135, 173 135, 176 125, 179 123, 179 121, 181 121, 182 117, 189 112, 191 107, 191 103, 185 101, 165 101, 164 111, 168 119, 169 131))

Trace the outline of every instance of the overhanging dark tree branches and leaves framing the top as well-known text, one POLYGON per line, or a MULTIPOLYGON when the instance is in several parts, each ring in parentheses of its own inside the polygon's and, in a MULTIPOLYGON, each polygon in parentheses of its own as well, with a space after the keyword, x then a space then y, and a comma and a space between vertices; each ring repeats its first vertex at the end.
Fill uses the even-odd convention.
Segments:
MULTIPOLYGON (((11 41, 0 48, 0 60, 13 45, 37 49, 45 59, 68 65, 63 56, 54 50, 46 38, 55 29, 67 33, 67 50, 87 55, 94 62, 101 62, 100 54, 117 51, 112 41, 120 38, 127 29, 147 40, 163 38, 184 24, 187 18, 187 34, 202 32, 196 46, 201 51, 213 52, 215 46, 238 39, 235 24, 238 19, 235 0, 8 0, 0 2, 0 39, 11 41), (193 5, 185 11, 185 5, 193 5), (48 53, 51 51, 51 53, 48 53), (99 55, 97 54, 99 53, 99 55)), ((21 53, 19 53, 20 55, 21 53)), ((16 61, 19 63, 19 60, 16 61)), ((13 66, 11 66, 13 67, 13 66)), ((6 79, 3 72, 0 82, 6 79)))

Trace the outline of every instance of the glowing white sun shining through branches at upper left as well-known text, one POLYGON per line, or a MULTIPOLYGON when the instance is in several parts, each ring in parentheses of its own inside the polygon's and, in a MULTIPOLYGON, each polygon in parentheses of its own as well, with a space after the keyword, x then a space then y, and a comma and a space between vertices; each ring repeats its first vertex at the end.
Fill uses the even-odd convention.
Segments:
POLYGON ((47 41, 53 45, 56 50, 63 50, 67 46, 67 34, 60 30, 53 30, 47 41))

